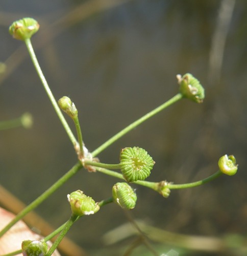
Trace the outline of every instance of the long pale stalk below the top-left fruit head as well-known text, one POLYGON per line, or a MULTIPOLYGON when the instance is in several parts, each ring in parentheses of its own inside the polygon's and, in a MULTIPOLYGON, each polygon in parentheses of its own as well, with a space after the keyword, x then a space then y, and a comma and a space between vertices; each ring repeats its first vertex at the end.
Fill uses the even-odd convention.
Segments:
POLYGON ((69 127, 67 121, 65 120, 65 118, 64 118, 64 116, 63 116, 63 114, 62 114, 62 112, 61 112, 61 110, 60 110, 60 108, 58 106, 58 103, 57 103, 56 99, 53 96, 53 93, 52 93, 50 87, 48 86, 48 83, 47 83, 47 81, 46 81, 46 79, 45 79, 45 77, 43 75, 43 72, 42 72, 40 66, 39 66, 39 62, 38 62, 37 57, 35 55, 35 52, 34 52, 34 49, 33 49, 32 43, 31 43, 31 40, 30 39, 26 39, 25 43, 26 43, 26 46, 28 48, 30 57, 31 57, 31 59, 33 61, 34 67, 35 67, 35 69, 36 69, 36 71, 38 73, 38 76, 39 76, 42 84, 43 84, 44 90, 46 91, 48 97, 50 98, 50 100, 51 100, 51 102, 53 104, 53 107, 54 107, 54 109, 55 109, 55 111, 56 111, 60 121, 62 122, 62 125, 63 125, 63 127, 64 127, 64 129, 65 129, 65 131, 66 131, 66 133, 67 133, 67 135, 68 135, 68 137, 70 139, 70 141, 75 146, 77 144, 77 140, 76 140, 75 136, 73 135, 72 131, 70 130, 70 127, 69 127))

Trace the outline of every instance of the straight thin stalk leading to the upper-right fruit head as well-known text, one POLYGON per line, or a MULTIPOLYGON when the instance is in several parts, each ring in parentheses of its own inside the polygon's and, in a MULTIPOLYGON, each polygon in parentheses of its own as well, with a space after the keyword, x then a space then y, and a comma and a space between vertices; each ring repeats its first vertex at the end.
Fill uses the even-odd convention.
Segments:
POLYGON ((146 121, 150 117, 156 115, 158 112, 164 110, 169 105, 174 104, 175 102, 177 102, 178 100, 180 100, 182 98, 183 98, 183 95, 178 93, 177 95, 175 95, 174 97, 172 97, 171 99, 169 99, 168 101, 163 103, 162 105, 158 106, 156 109, 152 110, 151 112, 149 112, 149 113, 145 114, 144 116, 142 116, 141 118, 137 119, 136 121, 134 121, 133 123, 131 123, 130 125, 125 127, 125 129, 121 130, 119 133, 117 133, 116 135, 111 137, 109 140, 107 140, 101 146, 96 148, 96 150, 94 150, 92 152, 92 156, 93 157, 97 156, 99 153, 101 153, 103 150, 105 150, 105 148, 107 148, 109 145, 111 145, 113 142, 115 142, 116 140, 118 140, 119 138, 121 138, 122 136, 124 136, 125 134, 130 132, 131 130, 133 130, 136 126, 138 126, 142 122, 146 121))

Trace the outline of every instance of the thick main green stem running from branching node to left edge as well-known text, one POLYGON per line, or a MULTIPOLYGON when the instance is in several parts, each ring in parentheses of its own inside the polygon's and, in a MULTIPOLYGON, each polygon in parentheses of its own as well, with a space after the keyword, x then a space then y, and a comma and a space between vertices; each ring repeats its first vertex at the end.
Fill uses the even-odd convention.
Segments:
POLYGON ((0 237, 3 236, 17 221, 22 219, 26 214, 35 209, 39 204, 41 204, 46 198, 51 196, 59 187, 61 187, 68 179, 75 175, 78 170, 82 168, 81 162, 75 164, 64 176, 62 176, 57 182, 55 182, 50 188, 48 188, 44 193, 35 199, 30 205, 24 208, 16 217, 0 232, 0 237))

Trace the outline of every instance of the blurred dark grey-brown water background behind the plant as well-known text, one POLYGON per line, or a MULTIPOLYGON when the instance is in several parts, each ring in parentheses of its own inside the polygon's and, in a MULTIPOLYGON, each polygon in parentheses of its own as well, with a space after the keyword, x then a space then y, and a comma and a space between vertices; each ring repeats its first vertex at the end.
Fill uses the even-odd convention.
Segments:
MULTIPOLYGON (((145 225, 150 227, 146 234, 152 238, 150 243, 157 255, 244 255, 246 2, 2 0, 0 119, 30 112, 34 124, 29 130, 20 127, 0 132, 0 182, 29 204, 65 174, 77 156, 27 49, 9 35, 9 25, 25 16, 40 24, 32 42, 41 68, 55 98, 66 95, 76 103, 90 151, 177 94, 177 74, 190 72, 201 81, 206 94, 203 104, 181 100, 98 157, 102 162, 117 163, 120 148, 140 146, 156 161, 148 180, 186 183, 213 174, 220 156, 234 154, 239 164, 235 176, 173 190, 168 199, 133 185, 138 202, 130 214, 143 223, 143 230, 145 225), (162 239, 151 227, 209 237, 227 247, 196 251, 194 245, 162 239)), ((110 197, 116 182, 115 178, 81 170, 36 212, 58 227, 70 216, 68 193, 81 189, 101 201, 110 197)), ((68 237, 88 255, 127 255, 137 236, 130 232, 124 239, 111 241, 110 231, 124 228, 122 225, 128 222, 120 207, 109 204, 96 215, 79 220, 68 237)), ((113 232, 113 238, 124 233, 120 230, 113 232)), ((153 255, 144 245, 137 247, 128 255, 153 255)), ((213 245, 202 243, 202 247, 213 245)))

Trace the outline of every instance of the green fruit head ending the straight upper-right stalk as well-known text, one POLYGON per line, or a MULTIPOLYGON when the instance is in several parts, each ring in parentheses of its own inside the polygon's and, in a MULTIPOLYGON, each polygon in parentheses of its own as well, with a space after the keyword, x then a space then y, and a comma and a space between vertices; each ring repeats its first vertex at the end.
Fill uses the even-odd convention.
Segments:
POLYGON ((183 97, 195 101, 196 103, 203 102, 205 97, 204 88, 199 80, 189 73, 185 74, 183 77, 177 75, 177 79, 180 85, 179 92, 183 97))

